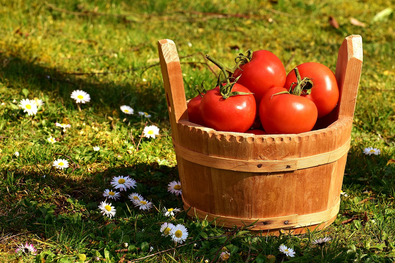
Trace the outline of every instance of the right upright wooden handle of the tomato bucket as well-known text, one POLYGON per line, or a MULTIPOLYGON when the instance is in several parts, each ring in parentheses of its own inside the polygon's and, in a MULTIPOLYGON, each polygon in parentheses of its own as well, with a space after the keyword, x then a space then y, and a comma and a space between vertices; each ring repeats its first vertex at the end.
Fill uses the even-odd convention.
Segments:
POLYGON ((337 55, 335 76, 339 85, 339 101, 331 113, 332 121, 354 117, 359 78, 362 69, 362 38, 351 35, 344 39, 337 55))

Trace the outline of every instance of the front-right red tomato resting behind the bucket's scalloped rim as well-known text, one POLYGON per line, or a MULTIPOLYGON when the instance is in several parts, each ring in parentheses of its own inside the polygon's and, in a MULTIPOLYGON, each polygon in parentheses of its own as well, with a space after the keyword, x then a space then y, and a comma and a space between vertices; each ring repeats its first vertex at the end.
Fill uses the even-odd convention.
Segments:
POLYGON ((311 100, 293 94, 283 87, 270 88, 259 107, 263 129, 267 134, 291 134, 311 131, 317 120, 317 107, 311 100))

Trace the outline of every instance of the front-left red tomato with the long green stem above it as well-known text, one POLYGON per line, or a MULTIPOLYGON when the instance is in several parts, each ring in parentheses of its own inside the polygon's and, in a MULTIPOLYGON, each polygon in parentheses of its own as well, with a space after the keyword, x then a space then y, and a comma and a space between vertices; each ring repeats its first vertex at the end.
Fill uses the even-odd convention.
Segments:
MULTIPOLYGON (((235 83, 233 91, 250 90, 235 83)), ((222 97, 219 87, 207 91, 200 103, 200 114, 206 126, 217 131, 245 132, 254 123, 256 102, 252 94, 222 97)))

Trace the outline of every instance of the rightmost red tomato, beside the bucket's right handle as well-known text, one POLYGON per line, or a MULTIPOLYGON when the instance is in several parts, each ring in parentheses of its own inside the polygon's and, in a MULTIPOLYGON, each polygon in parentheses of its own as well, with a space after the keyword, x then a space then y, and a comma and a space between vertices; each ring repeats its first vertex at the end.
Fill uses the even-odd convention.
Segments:
MULTIPOLYGON (((307 62, 297 66, 301 79, 308 77, 313 82, 313 87, 309 95, 301 95, 312 100, 318 110, 318 118, 327 115, 337 105, 339 100, 339 87, 335 74, 325 65, 316 62, 307 62)), ((287 75, 284 88, 288 89, 291 83, 296 82, 295 71, 292 70, 287 75)), ((292 87, 295 87, 294 84, 292 87)))

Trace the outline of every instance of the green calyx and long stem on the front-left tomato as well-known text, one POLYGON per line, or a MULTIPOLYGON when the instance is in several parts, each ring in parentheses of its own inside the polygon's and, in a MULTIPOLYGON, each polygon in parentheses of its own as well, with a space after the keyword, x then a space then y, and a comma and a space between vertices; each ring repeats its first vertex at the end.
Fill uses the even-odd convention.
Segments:
MULTIPOLYGON (((229 98, 231 96, 235 96, 235 95, 252 94, 252 93, 248 93, 248 92, 232 91, 233 86, 236 84, 236 82, 240 76, 237 77, 236 79, 234 79, 233 77, 229 76, 229 73, 233 74, 240 64, 236 64, 236 66, 231 69, 210 55, 206 55, 206 58, 208 60, 210 60, 211 62, 213 62, 218 68, 220 68, 220 70, 224 74, 225 78, 222 81, 220 81, 220 75, 218 76, 218 80, 217 80, 217 86, 220 88, 220 94, 222 95, 222 98, 224 98, 224 100, 226 100, 227 98, 229 98), (234 81, 231 82, 230 81, 231 79, 234 79, 234 81)), ((203 83, 201 84, 201 87, 203 88, 203 83)))

